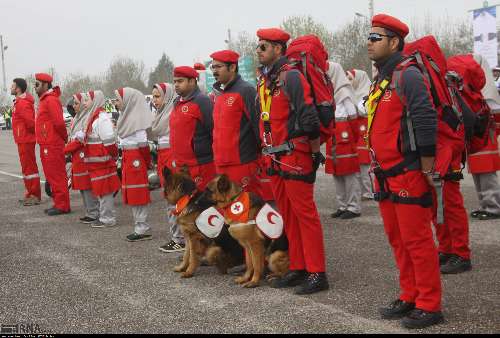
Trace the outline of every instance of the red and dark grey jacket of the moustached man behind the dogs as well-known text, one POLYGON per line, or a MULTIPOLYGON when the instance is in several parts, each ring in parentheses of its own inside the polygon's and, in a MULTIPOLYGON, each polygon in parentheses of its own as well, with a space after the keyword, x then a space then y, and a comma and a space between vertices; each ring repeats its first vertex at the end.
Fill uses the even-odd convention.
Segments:
POLYGON ((214 162, 218 167, 256 161, 259 153, 259 131, 255 98, 257 92, 241 76, 224 89, 216 88, 214 106, 214 162))

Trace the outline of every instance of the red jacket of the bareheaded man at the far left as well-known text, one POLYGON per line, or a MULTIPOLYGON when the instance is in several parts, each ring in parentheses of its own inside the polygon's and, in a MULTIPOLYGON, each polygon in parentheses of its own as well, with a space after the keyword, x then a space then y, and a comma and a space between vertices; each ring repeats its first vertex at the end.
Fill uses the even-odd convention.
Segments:
POLYGON ((17 144, 36 142, 35 99, 29 93, 24 93, 14 101, 12 132, 17 144))

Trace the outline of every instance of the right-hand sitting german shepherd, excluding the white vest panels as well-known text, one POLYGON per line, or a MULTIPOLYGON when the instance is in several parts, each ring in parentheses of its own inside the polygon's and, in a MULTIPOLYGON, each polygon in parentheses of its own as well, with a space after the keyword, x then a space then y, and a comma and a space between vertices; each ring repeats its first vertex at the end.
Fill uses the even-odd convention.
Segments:
MULTIPOLYGON (((235 198, 244 193, 241 186, 231 182, 226 175, 218 176, 208 184, 207 190, 219 210, 227 209, 235 198)), ((289 269, 288 239, 283 234, 278 240, 269 240, 255 225, 255 220, 265 202, 258 196, 250 194, 248 224, 236 224, 228 220, 229 233, 243 248, 245 248, 246 272, 235 282, 245 288, 254 288, 260 285, 264 276, 265 261, 269 263, 271 274, 269 279, 283 277, 289 269)))

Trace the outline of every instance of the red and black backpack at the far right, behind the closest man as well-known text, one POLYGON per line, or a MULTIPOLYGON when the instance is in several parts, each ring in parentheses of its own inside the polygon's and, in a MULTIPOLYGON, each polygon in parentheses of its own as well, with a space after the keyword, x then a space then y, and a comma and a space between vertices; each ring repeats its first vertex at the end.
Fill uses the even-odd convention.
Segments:
POLYGON ((467 151, 474 154, 488 144, 493 116, 481 91, 486 76, 472 55, 457 55, 448 59, 447 80, 459 99, 464 113, 467 151))

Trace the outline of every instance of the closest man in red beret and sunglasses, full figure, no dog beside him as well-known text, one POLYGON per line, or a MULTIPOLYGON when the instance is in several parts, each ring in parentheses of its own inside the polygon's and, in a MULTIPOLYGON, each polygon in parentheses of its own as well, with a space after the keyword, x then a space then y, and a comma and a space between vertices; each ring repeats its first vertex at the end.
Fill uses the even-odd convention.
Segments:
POLYGON ((438 121, 427 80, 417 67, 404 67, 408 33, 408 26, 394 17, 373 17, 367 47, 378 76, 366 106, 368 143, 380 191, 377 199, 400 272, 401 294, 380 313, 383 319, 402 319, 404 327, 417 329, 443 321, 432 209, 422 202, 432 189, 438 121), (396 77, 401 79, 398 90, 396 77), (414 130, 416 152, 402 127, 407 123, 414 130))

